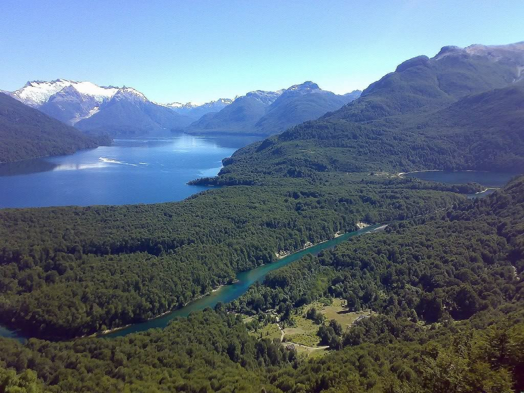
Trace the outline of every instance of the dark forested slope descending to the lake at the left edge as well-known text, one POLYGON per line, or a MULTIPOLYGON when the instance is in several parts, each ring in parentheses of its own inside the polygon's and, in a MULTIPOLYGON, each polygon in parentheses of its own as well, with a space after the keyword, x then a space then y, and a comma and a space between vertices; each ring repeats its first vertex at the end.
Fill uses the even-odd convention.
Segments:
POLYGON ((106 136, 84 135, 0 93, 0 162, 72 154, 110 143, 106 136))

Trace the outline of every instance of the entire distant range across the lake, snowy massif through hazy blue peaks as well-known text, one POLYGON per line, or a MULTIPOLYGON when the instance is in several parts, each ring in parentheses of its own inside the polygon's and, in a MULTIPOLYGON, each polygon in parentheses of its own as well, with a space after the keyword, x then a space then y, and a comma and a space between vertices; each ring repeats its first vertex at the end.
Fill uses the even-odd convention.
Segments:
POLYGON ((277 92, 256 90, 235 100, 159 104, 139 91, 67 79, 30 81, 4 92, 86 133, 112 136, 221 133, 270 135, 336 110, 361 93, 336 95, 312 82, 277 92))

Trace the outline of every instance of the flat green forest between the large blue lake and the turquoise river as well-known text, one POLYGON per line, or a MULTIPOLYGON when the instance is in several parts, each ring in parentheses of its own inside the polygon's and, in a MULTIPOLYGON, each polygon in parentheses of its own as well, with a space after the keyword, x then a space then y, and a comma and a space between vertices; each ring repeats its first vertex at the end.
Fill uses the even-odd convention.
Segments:
POLYGON ((143 321, 280 250, 464 198, 446 190, 456 186, 341 174, 318 185, 215 189, 179 203, 2 210, 0 318, 39 337, 143 321))

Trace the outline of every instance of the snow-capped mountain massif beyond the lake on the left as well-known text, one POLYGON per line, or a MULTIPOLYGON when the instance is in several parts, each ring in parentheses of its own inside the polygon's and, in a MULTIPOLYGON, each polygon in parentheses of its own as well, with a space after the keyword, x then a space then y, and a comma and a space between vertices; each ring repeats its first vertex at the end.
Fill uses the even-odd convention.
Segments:
POLYGON ((92 82, 57 79, 30 81, 6 92, 28 106, 92 133, 116 135, 170 134, 194 118, 151 102, 139 91, 123 86, 98 86, 92 82))

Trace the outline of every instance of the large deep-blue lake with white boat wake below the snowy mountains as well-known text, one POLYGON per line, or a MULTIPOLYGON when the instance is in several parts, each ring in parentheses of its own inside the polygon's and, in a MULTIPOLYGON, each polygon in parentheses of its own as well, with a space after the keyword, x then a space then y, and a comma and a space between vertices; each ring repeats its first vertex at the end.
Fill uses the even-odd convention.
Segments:
POLYGON ((0 208, 179 201, 256 137, 115 139, 111 146, 0 165, 0 208))

